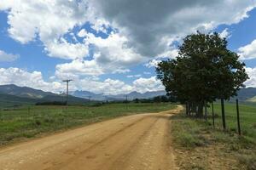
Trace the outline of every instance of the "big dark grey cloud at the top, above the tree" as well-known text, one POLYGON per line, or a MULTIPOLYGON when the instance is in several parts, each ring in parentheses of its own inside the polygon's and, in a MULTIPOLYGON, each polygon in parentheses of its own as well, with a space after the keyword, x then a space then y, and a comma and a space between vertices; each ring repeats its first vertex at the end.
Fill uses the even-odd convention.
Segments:
POLYGON ((128 46, 135 47, 143 56, 157 56, 168 51, 169 44, 176 37, 196 30, 210 31, 220 24, 237 23, 246 18, 247 11, 256 4, 251 0, 90 2, 102 17, 129 37, 128 46))

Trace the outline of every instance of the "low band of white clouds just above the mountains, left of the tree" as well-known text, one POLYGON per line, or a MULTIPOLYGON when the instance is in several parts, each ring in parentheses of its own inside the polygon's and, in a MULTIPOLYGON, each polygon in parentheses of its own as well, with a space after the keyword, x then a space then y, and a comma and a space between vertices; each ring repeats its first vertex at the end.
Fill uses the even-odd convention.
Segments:
MULTIPOLYGON (((8 69, 0 68, 0 85, 16 84, 21 87, 26 86, 54 93, 59 93, 66 89, 66 84, 61 82, 61 78, 51 77, 49 80, 52 81, 45 81, 40 71, 29 72, 13 67, 8 69), (59 81, 53 81, 52 79, 58 79, 59 81)), ((164 88, 156 77, 138 78, 132 84, 111 78, 100 81, 97 77, 73 77, 73 82, 70 83, 70 90, 77 89, 97 94, 127 94, 132 91, 144 93, 164 88)))

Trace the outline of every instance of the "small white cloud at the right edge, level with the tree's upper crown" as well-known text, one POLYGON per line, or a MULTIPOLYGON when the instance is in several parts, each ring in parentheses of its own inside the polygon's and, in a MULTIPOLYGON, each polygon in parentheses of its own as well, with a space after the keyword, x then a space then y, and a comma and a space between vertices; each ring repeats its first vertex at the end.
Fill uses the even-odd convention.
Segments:
POLYGON ((241 59, 255 59, 256 58, 256 40, 250 44, 238 48, 241 59))

